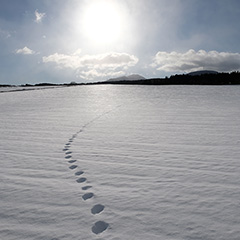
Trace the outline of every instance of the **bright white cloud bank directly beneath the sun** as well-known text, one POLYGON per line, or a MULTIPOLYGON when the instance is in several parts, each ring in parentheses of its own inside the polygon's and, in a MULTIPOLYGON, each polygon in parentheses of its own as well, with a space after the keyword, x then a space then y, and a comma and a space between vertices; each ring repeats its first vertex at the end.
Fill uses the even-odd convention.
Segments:
POLYGON ((80 55, 77 50, 71 55, 54 53, 42 58, 44 63, 54 63, 58 68, 70 68, 78 77, 92 80, 94 78, 119 76, 124 70, 135 66, 138 58, 128 53, 109 52, 97 55, 80 55))

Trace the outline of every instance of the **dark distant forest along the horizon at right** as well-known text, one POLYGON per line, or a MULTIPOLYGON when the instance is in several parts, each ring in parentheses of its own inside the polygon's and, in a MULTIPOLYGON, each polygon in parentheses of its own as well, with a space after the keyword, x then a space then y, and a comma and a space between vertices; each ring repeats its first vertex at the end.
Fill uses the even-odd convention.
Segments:
POLYGON ((231 85, 240 84, 240 72, 173 75, 165 78, 150 78, 134 81, 107 81, 104 84, 141 84, 141 85, 231 85))

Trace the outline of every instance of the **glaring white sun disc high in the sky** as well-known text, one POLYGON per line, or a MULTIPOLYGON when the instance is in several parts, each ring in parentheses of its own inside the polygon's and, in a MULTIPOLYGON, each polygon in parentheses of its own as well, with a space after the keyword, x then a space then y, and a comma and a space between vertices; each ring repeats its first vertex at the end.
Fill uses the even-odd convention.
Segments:
POLYGON ((114 43, 122 34, 124 19, 115 1, 90 1, 82 17, 83 34, 95 44, 114 43))

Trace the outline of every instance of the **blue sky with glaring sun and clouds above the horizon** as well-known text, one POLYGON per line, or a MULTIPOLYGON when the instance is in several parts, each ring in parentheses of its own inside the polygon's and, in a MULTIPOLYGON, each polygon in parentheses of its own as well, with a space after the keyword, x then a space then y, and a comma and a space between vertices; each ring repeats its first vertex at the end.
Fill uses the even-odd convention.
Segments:
POLYGON ((0 0, 0 84, 240 70, 239 0, 0 0))

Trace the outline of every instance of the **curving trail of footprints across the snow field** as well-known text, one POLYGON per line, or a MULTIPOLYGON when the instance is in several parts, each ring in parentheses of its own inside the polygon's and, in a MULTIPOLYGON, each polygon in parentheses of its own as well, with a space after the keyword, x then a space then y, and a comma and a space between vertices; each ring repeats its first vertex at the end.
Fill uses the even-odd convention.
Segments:
MULTIPOLYGON (((96 122, 99 118, 107 115, 108 113, 112 112, 113 110, 115 110, 118 107, 120 107, 120 105, 115 107, 114 109, 111 109, 107 112, 104 112, 104 113, 98 115, 97 117, 93 118, 91 121, 89 121, 88 123, 83 125, 82 128, 78 132, 76 132, 75 134, 72 135, 71 138, 69 138, 68 142, 65 144, 65 146, 63 148, 63 151, 65 152, 65 160, 70 164, 69 169, 74 170, 74 171, 76 170, 74 173, 75 177, 77 177, 76 182, 80 183, 80 184, 84 184, 82 186, 82 190, 86 191, 86 193, 84 193, 82 195, 83 201, 88 201, 89 199, 94 198, 94 192, 88 191, 89 189, 92 189, 93 186, 87 184, 87 178, 84 177, 84 171, 80 170, 79 166, 77 165, 77 160, 72 159, 72 151, 70 151, 71 144, 78 137, 78 135, 84 131, 84 129, 87 126, 89 126, 93 122, 96 122)), ((104 209, 105 209, 104 205, 96 204, 91 208, 91 214, 92 215, 100 214, 102 211, 104 211, 104 209)), ((108 227, 109 227, 109 224, 107 222, 97 221, 92 226, 92 233, 100 234, 100 233, 104 232, 105 230, 107 230, 108 227)))

